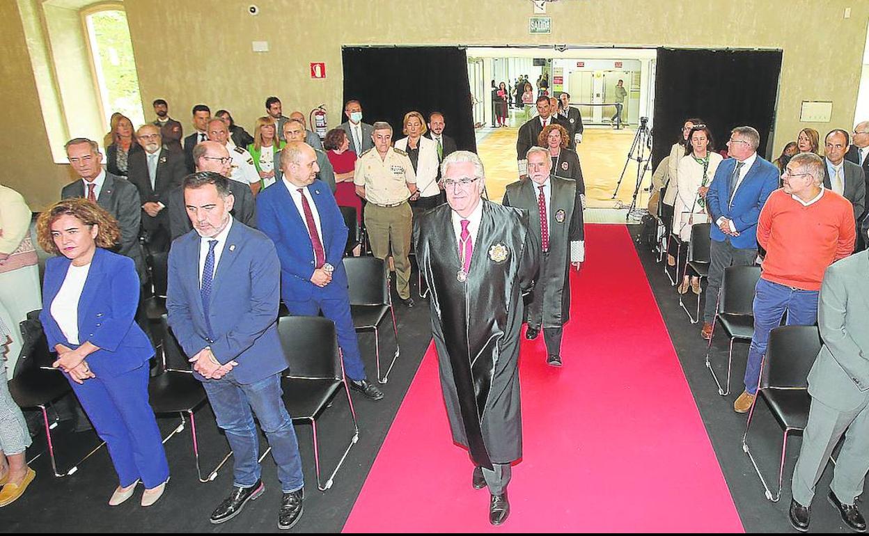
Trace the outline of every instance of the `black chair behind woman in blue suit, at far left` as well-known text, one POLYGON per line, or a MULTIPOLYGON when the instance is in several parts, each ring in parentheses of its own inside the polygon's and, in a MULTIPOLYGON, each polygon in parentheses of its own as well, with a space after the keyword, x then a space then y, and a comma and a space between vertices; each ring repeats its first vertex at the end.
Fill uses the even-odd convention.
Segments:
MULTIPOLYGON (((21 322, 21 333, 24 346, 15 365, 14 377, 9 380, 9 390, 12 400, 18 407, 24 410, 38 409, 43 414, 43 426, 45 427, 45 442, 48 446, 51 470, 58 478, 70 476, 78 471, 78 466, 100 450, 105 441, 100 441, 93 450, 76 461, 69 469, 57 470, 55 458, 54 440, 51 438, 51 430, 57 426, 56 420, 49 422, 48 407, 72 391, 70 382, 63 377, 63 373, 51 367, 55 361, 54 355, 49 350, 48 341, 45 339, 42 323, 39 321, 39 311, 29 313, 28 319, 21 322)), ((0 364, 0 367, 3 365, 0 364)), ((43 453, 38 453, 28 463, 36 460, 43 453)))

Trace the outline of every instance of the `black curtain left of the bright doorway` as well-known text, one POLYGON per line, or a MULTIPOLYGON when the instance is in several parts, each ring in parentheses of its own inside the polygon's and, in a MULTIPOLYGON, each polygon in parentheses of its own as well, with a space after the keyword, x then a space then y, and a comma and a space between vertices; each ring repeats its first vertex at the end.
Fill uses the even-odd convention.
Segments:
MULTIPOLYGON (((458 47, 344 47, 344 102, 362 103, 362 121, 386 121, 393 140, 401 134, 404 115, 433 111, 444 115, 444 134, 459 149, 476 152, 468 57, 458 47)), ((346 117, 342 118, 346 121, 346 117)))

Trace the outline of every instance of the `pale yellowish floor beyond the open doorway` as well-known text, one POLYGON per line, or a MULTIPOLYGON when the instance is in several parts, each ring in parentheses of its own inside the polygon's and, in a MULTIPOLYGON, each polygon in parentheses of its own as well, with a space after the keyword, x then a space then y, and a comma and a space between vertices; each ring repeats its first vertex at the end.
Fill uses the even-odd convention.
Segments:
MULTIPOLYGON (((486 168, 486 189, 489 199, 500 202, 507 184, 518 178, 516 168, 516 136, 518 128, 479 129, 477 152, 486 168)), ((586 183, 588 208, 616 208, 617 202, 629 205, 637 178, 636 161, 625 171, 619 195, 613 199, 615 185, 625 167, 627 153, 634 142, 634 129, 614 130, 586 128, 579 146, 582 175, 586 183)), ((646 151, 648 156, 648 151, 646 151)), ((651 164, 650 164, 651 165, 651 164)), ((652 170, 643 176, 643 188, 652 181, 652 170)), ((638 206, 645 208, 646 192, 640 192, 638 206)))

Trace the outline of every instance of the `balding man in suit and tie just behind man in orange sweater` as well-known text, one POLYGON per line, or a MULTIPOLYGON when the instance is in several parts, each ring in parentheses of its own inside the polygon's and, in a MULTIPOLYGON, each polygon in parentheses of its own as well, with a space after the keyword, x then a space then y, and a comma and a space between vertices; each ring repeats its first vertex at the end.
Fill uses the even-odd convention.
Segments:
POLYGON ((824 188, 832 189, 851 202, 859 237, 861 217, 866 208, 866 177, 859 165, 845 159, 850 145, 850 136, 842 129, 831 130, 824 138, 824 188))

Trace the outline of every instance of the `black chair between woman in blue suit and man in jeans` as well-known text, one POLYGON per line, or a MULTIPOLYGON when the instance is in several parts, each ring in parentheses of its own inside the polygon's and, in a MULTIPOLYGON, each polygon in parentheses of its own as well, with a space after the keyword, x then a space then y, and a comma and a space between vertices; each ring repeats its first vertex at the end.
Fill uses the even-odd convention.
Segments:
POLYGON ((190 370, 189 362, 184 357, 184 352, 178 345, 175 336, 169 330, 169 322, 166 314, 160 319, 163 327, 163 359, 158 367, 158 374, 149 380, 148 394, 151 407, 155 414, 180 414, 181 422, 163 439, 163 443, 172 439, 176 433, 184 430, 187 420, 190 420, 190 436, 193 440, 193 457, 196 460, 196 475, 203 484, 217 478, 217 472, 223 464, 232 456, 232 451, 227 453, 220 464, 208 473, 208 477, 202 478, 202 469, 199 465, 199 441, 196 437, 196 409, 204 406, 208 397, 202 382, 196 380, 190 370), (186 415, 186 418, 185 418, 186 415))

